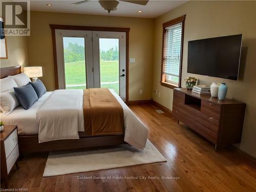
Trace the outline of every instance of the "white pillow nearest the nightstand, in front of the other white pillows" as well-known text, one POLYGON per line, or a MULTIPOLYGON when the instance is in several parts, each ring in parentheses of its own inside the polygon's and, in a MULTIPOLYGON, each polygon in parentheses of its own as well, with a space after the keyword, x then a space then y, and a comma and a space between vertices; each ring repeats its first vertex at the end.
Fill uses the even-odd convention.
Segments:
POLYGON ((12 110, 19 106, 19 102, 14 94, 13 88, 4 93, 0 93, 0 101, 1 111, 5 115, 9 115, 12 112, 12 110))

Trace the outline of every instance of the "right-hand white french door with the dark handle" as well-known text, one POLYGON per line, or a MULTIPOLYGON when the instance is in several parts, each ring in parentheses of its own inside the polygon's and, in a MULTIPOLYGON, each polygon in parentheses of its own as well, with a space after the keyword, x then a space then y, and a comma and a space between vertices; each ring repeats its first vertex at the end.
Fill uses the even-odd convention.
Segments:
POLYGON ((94 87, 114 89, 125 101, 125 33, 93 31, 94 87))

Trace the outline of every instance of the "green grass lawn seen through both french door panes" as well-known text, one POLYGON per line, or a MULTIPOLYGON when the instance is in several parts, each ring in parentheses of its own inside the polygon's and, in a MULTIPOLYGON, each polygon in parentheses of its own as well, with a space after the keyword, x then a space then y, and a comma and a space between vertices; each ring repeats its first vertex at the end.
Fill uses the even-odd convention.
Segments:
MULTIPOLYGON (((65 63, 66 89, 86 89, 86 67, 83 61, 65 63)), ((101 88, 114 89, 119 94, 119 66, 116 61, 100 60, 101 88), (113 82, 113 83, 109 83, 113 82), (108 83, 108 84, 105 84, 108 83)))

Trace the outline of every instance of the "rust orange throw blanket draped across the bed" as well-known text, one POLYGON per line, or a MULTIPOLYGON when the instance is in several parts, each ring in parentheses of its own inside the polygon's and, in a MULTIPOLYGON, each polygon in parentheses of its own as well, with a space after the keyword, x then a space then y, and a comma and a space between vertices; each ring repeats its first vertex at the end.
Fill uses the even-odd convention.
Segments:
POLYGON ((83 116, 87 135, 123 134, 123 109, 108 89, 83 90, 83 116))

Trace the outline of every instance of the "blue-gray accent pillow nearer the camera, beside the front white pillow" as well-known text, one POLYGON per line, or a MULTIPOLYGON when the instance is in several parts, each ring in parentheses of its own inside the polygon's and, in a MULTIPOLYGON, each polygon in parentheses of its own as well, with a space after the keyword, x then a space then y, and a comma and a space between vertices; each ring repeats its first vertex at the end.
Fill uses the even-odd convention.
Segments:
POLYGON ((31 108, 34 102, 38 100, 34 88, 29 83, 26 84, 26 86, 13 89, 20 105, 22 105, 25 110, 31 108))

